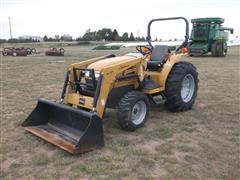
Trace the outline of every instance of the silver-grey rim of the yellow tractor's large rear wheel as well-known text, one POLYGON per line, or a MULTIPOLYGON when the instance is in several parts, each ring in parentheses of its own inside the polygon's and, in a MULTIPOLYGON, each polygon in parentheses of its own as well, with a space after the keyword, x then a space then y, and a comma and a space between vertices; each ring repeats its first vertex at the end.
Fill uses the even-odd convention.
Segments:
POLYGON ((184 102, 189 102, 194 94, 195 81, 191 74, 187 74, 182 81, 181 97, 184 102))

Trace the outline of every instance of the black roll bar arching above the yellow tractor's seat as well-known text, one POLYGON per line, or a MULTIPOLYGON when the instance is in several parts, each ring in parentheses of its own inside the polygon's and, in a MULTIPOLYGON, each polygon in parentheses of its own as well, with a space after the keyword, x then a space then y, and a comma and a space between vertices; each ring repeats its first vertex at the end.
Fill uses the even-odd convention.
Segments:
POLYGON ((185 40, 183 41, 183 43, 176 49, 176 52, 183 48, 186 47, 188 44, 188 38, 189 38, 189 23, 188 20, 184 17, 171 17, 171 18, 159 18, 159 19, 152 19, 149 23, 148 23, 148 29, 147 29, 147 42, 148 44, 151 46, 151 48, 153 48, 152 45, 152 39, 151 39, 151 25, 153 22, 155 21, 168 21, 168 20, 178 20, 178 19, 182 19, 185 21, 186 23, 186 32, 185 32, 185 40))

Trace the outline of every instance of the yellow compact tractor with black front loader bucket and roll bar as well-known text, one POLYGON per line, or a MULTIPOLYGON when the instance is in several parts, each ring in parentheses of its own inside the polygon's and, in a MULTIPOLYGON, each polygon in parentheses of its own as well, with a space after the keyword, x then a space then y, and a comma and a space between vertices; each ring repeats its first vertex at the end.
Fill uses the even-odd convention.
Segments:
POLYGON ((148 24, 148 46, 116 57, 107 55, 71 64, 59 102, 40 98, 22 126, 36 136, 70 152, 81 153, 104 145, 106 108, 117 111, 119 126, 127 131, 142 127, 150 113, 150 101, 165 103, 170 111, 192 108, 198 90, 198 73, 180 61, 188 43, 188 21, 183 17, 153 19, 148 24), (184 42, 170 52, 153 46, 151 24, 184 20, 184 42))

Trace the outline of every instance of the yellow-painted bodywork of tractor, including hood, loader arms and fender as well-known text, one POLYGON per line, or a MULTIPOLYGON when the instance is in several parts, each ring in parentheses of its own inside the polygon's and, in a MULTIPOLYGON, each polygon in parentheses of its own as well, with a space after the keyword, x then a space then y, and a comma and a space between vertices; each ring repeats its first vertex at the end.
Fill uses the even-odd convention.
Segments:
MULTIPOLYGON (((121 57, 113 57, 106 58, 104 56, 93 58, 90 60, 82 61, 79 63, 71 64, 69 66, 69 81, 74 82, 73 78, 73 68, 88 68, 95 69, 100 72, 103 76, 102 84, 100 89, 100 94, 97 100, 96 105, 96 113, 99 117, 103 116, 104 109, 106 106, 107 98, 112 90, 112 88, 134 85, 135 88, 139 87, 139 83, 142 82, 144 77, 150 76, 152 80, 154 80, 157 84, 159 84, 160 88, 152 89, 152 90, 144 90, 145 94, 155 94, 165 90, 165 83, 167 77, 173 67, 173 65, 178 61, 181 55, 171 54, 169 55, 166 63, 163 65, 160 71, 146 71, 146 62, 149 57, 146 59, 136 58, 133 56, 121 56, 121 57), (137 74, 137 77, 129 78, 125 80, 117 80, 117 77, 125 76, 127 74, 137 74)), ((80 73, 80 72, 79 72, 80 73)), ((78 74, 79 75, 79 74, 78 74)), ((75 93, 74 87, 72 87, 71 83, 68 83, 67 93, 64 98, 64 102, 66 104, 70 104, 73 106, 87 108, 89 110, 93 109, 93 97, 83 96, 78 93, 75 93), (80 99, 84 99, 84 104, 79 104, 80 99)))

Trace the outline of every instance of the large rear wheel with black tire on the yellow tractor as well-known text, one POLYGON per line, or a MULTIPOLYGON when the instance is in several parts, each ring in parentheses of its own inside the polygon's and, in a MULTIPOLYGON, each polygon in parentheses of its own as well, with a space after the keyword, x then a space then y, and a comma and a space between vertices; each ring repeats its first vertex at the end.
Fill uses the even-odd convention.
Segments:
POLYGON ((167 101, 165 104, 173 112, 187 111, 194 104, 197 90, 198 73, 196 68, 189 62, 178 62, 173 66, 167 78, 165 90, 167 101), (186 87, 183 87, 185 81, 189 81, 189 91, 186 97, 183 97, 186 93, 186 87), (191 83, 192 85, 190 85, 191 83))

